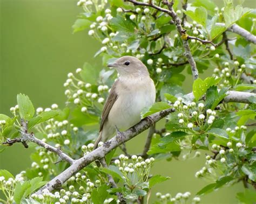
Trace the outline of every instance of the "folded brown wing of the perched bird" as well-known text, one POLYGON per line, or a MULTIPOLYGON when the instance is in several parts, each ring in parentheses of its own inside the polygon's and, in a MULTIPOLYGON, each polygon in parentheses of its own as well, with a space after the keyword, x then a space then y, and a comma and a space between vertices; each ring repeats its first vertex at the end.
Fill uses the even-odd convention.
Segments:
POLYGON ((109 117, 109 112, 111 108, 113 107, 114 102, 116 102, 118 95, 116 92, 117 83, 119 80, 114 82, 113 86, 111 87, 109 96, 107 97, 106 103, 104 104, 104 108, 102 111, 102 121, 100 122, 100 128, 99 131, 102 131, 103 125, 107 120, 107 117, 109 117))

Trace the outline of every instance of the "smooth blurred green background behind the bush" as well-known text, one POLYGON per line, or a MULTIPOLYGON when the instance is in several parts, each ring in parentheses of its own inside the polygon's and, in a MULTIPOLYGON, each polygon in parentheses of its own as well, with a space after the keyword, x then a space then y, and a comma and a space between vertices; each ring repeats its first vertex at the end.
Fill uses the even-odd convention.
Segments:
MULTIPOLYGON (((72 34, 71 26, 82 9, 72 0, 0 0, 1 54, 0 54, 0 112, 10 114, 16 104, 16 95, 29 95, 35 107, 50 107, 52 103, 64 107, 66 75, 82 67, 85 61, 101 66, 100 58, 93 58, 100 44, 87 32, 72 34)), ((190 2, 190 1, 188 1, 190 2)), ((215 1, 221 4, 222 1, 215 1)), ((255 2, 245 4, 255 8, 255 2)), ((189 80, 190 81, 190 80, 189 80)), ((191 87, 191 81, 186 87, 191 87)), ((190 91, 187 89, 187 92, 190 91)), ((145 135, 128 144, 131 153, 138 153, 145 135)), ((15 144, 0 154, 0 169, 19 173, 31 164, 31 149, 15 144)), ((152 197, 161 193, 190 191, 192 195, 211 181, 196 179, 194 174, 205 163, 205 154, 199 158, 155 163, 152 173, 172 179, 154 187, 152 197)), ((235 194, 242 184, 221 188, 203 196, 201 203, 237 203, 235 194)))

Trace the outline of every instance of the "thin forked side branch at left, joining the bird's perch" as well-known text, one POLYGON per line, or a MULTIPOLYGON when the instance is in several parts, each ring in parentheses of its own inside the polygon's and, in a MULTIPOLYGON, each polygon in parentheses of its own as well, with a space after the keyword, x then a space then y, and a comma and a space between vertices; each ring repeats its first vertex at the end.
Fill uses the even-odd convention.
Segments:
POLYGON ((36 138, 33 132, 29 133, 28 123, 25 122, 23 119, 21 121, 21 125, 22 125, 22 131, 21 131, 22 137, 7 139, 6 142, 4 142, 3 144, 7 144, 11 146, 14 143, 21 142, 24 145, 24 147, 28 148, 29 146, 26 144, 26 142, 33 142, 38 144, 39 146, 44 147, 48 151, 56 153, 60 157, 60 159, 67 161, 69 164, 74 163, 75 160, 73 160, 71 157, 68 156, 68 154, 65 154, 62 150, 60 150, 60 148, 55 148, 49 144, 46 144, 41 139, 36 138))

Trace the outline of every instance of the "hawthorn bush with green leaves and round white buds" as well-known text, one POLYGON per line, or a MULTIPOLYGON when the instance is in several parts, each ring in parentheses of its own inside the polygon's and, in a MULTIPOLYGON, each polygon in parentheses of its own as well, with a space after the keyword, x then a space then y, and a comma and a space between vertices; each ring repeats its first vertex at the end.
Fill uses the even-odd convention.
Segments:
POLYGON ((234 195, 238 202, 254 203, 256 13, 232 0, 224 4, 80 0, 73 32, 87 32, 102 44, 95 56, 103 66, 132 55, 154 80, 157 102, 143 110, 142 122, 123 132, 126 142, 150 128, 145 147, 130 155, 114 137, 93 150, 98 127, 88 125, 99 124, 118 75, 85 63, 68 74, 64 109, 52 104, 35 110, 28 96, 18 94, 10 116, 0 114, 1 152, 17 142, 37 144, 31 167, 15 176, 0 170, 1 202, 152 203, 151 188, 170 179, 152 175, 152 165, 196 158, 205 150, 205 165, 195 176, 211 184, 193 196, 157 193, 154 203, 198 203, 204 194, 237 182, 245 187, 234 195), (209 76, 203 80, 205 71, 209 76), (184 93, 182 85, 192 78, 191 93, 184 93), (157 129, 152 122, 161 118, 165 128, 157 129), (116 153, 117 146, 123 154, 116 153))

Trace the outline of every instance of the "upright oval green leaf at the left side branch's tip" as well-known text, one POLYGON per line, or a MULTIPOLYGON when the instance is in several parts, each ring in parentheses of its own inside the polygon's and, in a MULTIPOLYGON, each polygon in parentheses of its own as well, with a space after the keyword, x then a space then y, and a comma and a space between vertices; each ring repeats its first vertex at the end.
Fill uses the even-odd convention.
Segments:
POLYGON ((24 94, 18 94, 17 103, 19 106, 19 114, 21 115, 21 118, 29 121, 35 114, 35 109, 29 97, 24 94))

